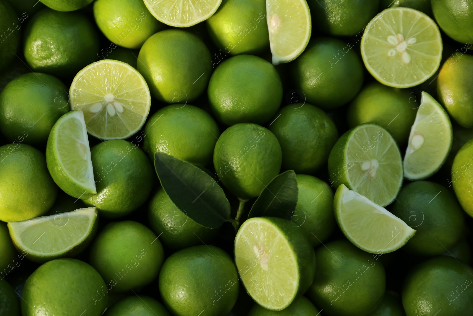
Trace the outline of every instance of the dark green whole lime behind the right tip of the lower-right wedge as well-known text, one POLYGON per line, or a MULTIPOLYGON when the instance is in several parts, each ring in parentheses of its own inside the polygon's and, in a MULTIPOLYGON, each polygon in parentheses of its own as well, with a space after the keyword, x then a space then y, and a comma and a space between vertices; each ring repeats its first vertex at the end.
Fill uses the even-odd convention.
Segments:
POLYGON ((417 231, 404 245, 404 250, 411 253, 442 254, 462 236, 462 209, 455 196, 438 183, 415 181, 406 184, 390 210, 417 231))

